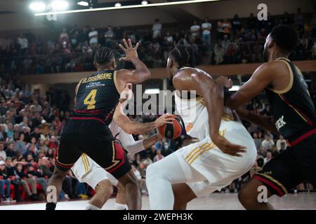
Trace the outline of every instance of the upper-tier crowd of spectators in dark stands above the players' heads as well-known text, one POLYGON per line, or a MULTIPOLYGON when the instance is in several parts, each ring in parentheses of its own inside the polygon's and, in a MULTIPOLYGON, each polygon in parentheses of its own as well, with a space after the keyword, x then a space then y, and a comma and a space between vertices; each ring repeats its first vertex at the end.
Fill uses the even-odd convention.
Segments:
MULTIPOLYGON (((254 13, 248 18, 219 21, 194 21, 192 26, 162 25, 159 19, 152 27, 122 28, 107 27, 83 29, 74 26, 55 31, 50 38, 39 38, 31 32, 20 34, 5 48, 0 47, 1 69, 6 73, 60 73, 93 70, 93 52, 101 45, 116 50, 121 56, 118 43, 122 38, 140 42, 138 55, 149 67, 162 67, 169 50, 180 43, 190 46, 195 57, 193 64, 235 64, 263 62, 262 52, 265 37, 272 27, 279 24, 293 25, 300 35, 299 45, 291 59, 316 58, 315 13, 268 15, 268 20, 259 21, 254 13), (171 27, 170 27, 171 26, 171 27)), ((121 66, 124 66, 121 64, 121 66)))

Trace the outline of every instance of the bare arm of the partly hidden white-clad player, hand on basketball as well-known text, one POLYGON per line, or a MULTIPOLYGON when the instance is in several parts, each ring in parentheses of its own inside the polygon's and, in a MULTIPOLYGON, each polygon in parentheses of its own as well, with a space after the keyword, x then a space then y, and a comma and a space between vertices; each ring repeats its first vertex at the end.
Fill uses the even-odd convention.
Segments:
POLYGON ((151 130, 154 130, 166 123, 172 123, 174 118, 173 115, 165 113, 154 122, 135 123, 126 116, 121 103, 119 103, 114 111, 113 120, 127 134, 146 134, 147 132, 150 132, 151 130))

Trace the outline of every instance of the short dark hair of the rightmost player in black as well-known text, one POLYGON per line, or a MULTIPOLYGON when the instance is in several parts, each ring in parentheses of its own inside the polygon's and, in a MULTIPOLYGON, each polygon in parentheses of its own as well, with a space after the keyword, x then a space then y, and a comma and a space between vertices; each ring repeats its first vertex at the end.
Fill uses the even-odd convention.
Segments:
POLYGON ((298 34, 295 29, 289 25, 278 25, 274 27, 270 33, 277 47, 289 53, 298 43, 298 34))

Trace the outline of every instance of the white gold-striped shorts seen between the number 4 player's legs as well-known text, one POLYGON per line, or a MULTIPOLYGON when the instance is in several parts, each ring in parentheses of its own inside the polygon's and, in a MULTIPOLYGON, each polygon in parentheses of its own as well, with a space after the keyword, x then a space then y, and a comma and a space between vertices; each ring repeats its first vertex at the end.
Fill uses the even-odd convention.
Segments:
POLYGON ((85 153, 74 163, 72 172, 79 182, 88 183, 93 189, 96 189, 98 183, 103 180, 109 180, 114 186, 117 186, 117 183, 119 183, 112 174, 106 172, 105 169, 100 167, 85 153))

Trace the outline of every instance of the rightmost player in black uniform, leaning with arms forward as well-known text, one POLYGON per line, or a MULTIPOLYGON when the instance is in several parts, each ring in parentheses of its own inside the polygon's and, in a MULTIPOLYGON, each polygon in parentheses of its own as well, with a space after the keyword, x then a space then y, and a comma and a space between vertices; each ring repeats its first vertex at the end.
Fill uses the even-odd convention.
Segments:
MULTIPOLYGON (((307 180, 316 186, 316 113, 301 71, 288 57, 296 47, 298 35, 288 25, 272 29, 265 41, 268 62, 254 71, 250 80, 228 97, 225 105, 238 109, 265 90, 272 116, 260 116, 238 109, 240 117, 275 134, 289 143, 284 153, 272 158, 239 192, 246 209, 273 209, 258 202, 258 187, 266 186, 268 197, 282 197, 288 190, 307 180)), ((228 93, 228 92, 227 92, 228 93)))

